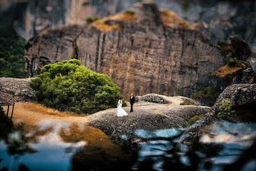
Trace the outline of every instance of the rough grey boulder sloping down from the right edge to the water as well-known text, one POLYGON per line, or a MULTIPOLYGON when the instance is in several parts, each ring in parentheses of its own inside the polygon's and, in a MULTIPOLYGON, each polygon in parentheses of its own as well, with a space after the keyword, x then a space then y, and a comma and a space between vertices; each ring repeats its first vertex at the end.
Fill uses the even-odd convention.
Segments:
POLYGON ((203 134, 204 128, 211 125, 218 119, 219 106, 223 99, 230 99, 232 108, 255 106, 256 104, 256 84, 234 84, 228 86, 212 106, 211 110, 184 132, 180 138, 181 143, 189 143, 199 139, 203 134))

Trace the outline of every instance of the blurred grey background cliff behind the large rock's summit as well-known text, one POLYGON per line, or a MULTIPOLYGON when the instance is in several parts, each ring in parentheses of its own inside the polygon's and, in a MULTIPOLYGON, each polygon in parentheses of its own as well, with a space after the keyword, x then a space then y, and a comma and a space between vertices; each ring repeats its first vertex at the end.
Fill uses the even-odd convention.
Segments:
MULTIPOLYGON (((106 17, 130 7, 135 0, 5 0, 0 2, 0 23, 17 25, 26 40, 49 26, 83 24, 88 16, 106 17)), ((158 7, 179 14, 197 26, 212 42, 238 35, 249 43, 252 54, 247 58, 256 69, 256 1, 180 1, 157 0, 158 7)))

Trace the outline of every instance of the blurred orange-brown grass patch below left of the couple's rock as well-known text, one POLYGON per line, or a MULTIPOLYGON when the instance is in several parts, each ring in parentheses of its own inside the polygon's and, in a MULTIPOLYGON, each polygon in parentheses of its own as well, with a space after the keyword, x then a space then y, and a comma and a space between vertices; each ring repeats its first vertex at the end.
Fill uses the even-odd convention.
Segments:
POLYGON ((80 129, 77 124, 73 123, 69 129, 62 128, 60 130, 60 137, 65 142, 86 141, 86 153, 94 153, 95 149, 98 149, 101 153, 117 156, 122 151, 121 147, 111 142, 110 138, 101 130, 90 126, 80 129))

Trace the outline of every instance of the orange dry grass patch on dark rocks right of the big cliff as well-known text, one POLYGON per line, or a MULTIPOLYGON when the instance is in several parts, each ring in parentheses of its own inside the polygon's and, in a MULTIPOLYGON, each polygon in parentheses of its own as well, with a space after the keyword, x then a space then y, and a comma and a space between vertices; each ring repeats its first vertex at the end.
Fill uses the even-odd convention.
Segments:
POLYGON ((245 64, 242 64, 241 67, 228 67, 228 65, 225 65, 224 67, 219 68, 218 70, 212 72, 211 75, 224 77, 224 76, 232 75, 244 68, 246 68, 245 64))

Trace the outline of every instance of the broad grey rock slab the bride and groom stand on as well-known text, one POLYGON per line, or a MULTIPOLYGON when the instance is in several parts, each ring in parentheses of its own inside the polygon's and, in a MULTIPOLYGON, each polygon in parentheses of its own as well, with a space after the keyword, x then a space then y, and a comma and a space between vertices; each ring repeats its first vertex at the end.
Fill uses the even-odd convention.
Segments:
MULTIPOLYGON (((157 95, 155 95, 157 96, 157 95)), ((122 147, 133 147, 143 138, 156 138, 157 130, 179 128, 195 115, 205 114, 210 107, 183 106, 183 97, 166 97, 170 103, 138 102, 134 104, 134 112, 124 107, 127 116, 117 117, 117 108, 97 112, 87 117, 89 126, 102 130, 106 135, 122 147), (144 135, 148 134, 148 137, 144 135), (150 135, 149 135, 150 134, 150 135)), ((176 130, 173 130, 174 132, 176 130)), ((161 134, 161 133, 160 133, 161 134)), ((161 135, 159 135, 161 137, 161 135)))

